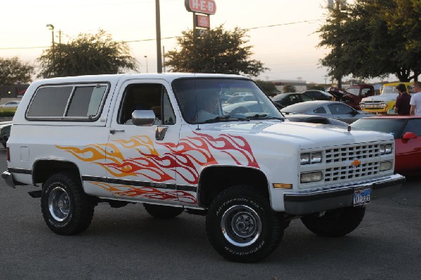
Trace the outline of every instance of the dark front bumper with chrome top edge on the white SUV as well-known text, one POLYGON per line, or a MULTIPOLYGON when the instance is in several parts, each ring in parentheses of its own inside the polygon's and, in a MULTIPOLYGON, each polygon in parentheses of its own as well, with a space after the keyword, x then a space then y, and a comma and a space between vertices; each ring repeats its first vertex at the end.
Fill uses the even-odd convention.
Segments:
POLYGON ((356 190, 370 188, 371 199, 377 199, 398 192, 403 182, 405 182, 405 177, 394 174, 357 183, 319 187, 302 192, 287 192, 283 194, 285 212, 291 215, 306 215, 349 207, 353 205, 356 190))

